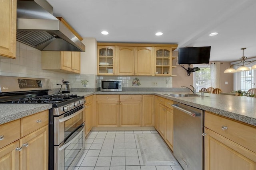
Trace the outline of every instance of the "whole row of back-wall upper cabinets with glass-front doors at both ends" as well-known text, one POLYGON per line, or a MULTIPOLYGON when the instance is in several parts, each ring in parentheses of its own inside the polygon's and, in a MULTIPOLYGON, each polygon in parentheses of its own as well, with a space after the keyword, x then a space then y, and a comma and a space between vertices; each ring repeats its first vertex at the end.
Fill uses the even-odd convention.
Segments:
POLYGON ((172 66, 172 59, 175 58, 172 57, 172 51, 177 46, 173 44, 98 43, 98 75, 172 76, 172 68, 175 67, 172 66), (158 51, 162 50, 162 56, 156 57, 156 48, 158 51))

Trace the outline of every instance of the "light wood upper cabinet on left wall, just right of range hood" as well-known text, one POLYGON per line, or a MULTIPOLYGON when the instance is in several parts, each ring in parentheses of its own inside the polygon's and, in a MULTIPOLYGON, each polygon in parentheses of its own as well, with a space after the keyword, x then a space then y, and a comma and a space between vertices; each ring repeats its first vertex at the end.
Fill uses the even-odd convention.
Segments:
POLYGON ((42 51, 42 69, 80 74, 80 52, 42 51))

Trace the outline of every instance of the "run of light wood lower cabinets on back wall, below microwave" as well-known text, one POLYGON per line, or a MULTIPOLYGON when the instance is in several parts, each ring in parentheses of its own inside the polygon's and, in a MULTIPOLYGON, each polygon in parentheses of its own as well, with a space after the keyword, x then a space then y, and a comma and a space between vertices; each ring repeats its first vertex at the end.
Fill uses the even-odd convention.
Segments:
POLYGON ((154 95, 96 95, 96 127, 154 126, 154 95))

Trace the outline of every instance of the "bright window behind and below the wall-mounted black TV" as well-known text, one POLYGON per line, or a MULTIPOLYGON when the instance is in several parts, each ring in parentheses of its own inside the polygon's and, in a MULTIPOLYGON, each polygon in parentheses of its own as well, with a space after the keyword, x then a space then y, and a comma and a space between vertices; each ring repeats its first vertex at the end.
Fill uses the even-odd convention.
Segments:
POLYGON ((193 86, 196 88, 196 92, 199 92, 201 88, 211 87, 211 68, 208 64, 194 64, 194 67, 200 68, 199 71, 193 74, 193 86))

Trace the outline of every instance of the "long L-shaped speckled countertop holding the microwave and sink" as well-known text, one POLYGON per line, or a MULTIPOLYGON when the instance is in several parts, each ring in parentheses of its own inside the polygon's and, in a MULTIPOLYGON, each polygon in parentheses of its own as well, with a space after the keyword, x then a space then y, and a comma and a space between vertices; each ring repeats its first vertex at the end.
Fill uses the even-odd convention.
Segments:
MULTIPOLYGON (((80 95, 90 96, 92 94, 152 94, 163 98, 180 102, 192 107, 210 111, 218 115, 229 117, 250 125, 256 126, 256 98, 207 94, 210 97, 170 97, 165 93, 187 93, 187 92, 150 92, 150 91, 127 91, 127 92, 94 92, 94 93, 79 93, 80 95)), ((190 93, 190 92, 188 92, 190 93)), ((198 93, 201 94, 201 93, 198 93)))

